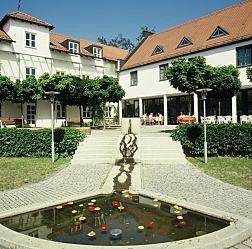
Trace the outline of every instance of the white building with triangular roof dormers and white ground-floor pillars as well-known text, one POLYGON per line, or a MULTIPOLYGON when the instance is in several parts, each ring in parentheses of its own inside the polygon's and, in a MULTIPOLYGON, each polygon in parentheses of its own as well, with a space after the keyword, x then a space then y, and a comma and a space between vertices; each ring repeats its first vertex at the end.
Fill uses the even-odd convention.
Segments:
MULTIPOLYGON (((122 116, 161 113, 165 124, 174 124, 181 112, 188 114, 188 96, 172 88, 164 72, 175 58, 196 56, 204 56, 212 66, 231 64, 239 68, 242 90, 232 99, 221 101, 221 114, 231 115, 233 122, 241 115, 252 115, 252 83, 246 76, 247 66, 252 65, 252 1, 247 0, 164 32, 148 34, 121 67, 119 81, 126 91, 122 116)), ((198 119, 202 103, 197 94, 192 107, 198 119)), ((207 109, 208 115, 217 115, 219 106, 209 100, 207 109)))

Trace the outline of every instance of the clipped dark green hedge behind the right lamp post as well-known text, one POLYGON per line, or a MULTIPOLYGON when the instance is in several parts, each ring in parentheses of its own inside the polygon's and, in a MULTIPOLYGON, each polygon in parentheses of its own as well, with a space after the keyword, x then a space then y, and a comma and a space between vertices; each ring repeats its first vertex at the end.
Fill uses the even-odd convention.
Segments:
MULTIPOLYGON (((180 125, 171 134, 192 156, 204 155, 204 127, 202 124, 180 125)), ((207 125, 208 155, 252 157, 251 124, 207 125)))

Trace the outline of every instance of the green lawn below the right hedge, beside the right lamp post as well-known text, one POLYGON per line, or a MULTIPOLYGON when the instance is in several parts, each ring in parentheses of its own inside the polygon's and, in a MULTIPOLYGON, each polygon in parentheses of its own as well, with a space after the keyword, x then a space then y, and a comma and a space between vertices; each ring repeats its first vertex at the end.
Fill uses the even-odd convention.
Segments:
POLYGON ((252 190, 252 159, 235 157, 187 158, 206 174, 245 189, 252 190))

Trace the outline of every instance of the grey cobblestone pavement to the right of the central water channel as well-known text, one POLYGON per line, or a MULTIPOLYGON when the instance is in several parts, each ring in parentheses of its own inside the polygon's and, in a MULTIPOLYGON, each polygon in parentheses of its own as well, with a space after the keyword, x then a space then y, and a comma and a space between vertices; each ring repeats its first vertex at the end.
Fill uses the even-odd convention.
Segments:
MULTIPOLYGON (((143 165, 143 189, 252 219, 252 191, 209 177, 189 163, 143 165)), ((234 248, 252 248, 252 238, 234 248)))

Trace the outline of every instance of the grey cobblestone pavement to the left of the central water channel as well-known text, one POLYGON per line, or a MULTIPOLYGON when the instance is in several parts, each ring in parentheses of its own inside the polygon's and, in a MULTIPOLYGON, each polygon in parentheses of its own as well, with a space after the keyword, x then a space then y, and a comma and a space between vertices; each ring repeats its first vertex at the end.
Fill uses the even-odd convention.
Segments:
POLYGON ((0 212, 99 190, 110 168, 109 164, 74 164, 40 183, 0 192, 0 212))

